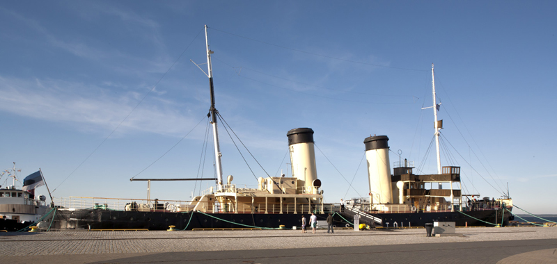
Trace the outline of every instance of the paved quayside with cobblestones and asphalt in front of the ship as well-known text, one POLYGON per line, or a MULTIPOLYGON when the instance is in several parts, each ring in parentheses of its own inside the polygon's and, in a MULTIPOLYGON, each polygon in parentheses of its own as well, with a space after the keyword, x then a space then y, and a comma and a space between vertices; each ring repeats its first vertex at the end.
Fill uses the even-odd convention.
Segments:
POLYGON ((557 227, 0 233, 1 263, 557 263, 557 227))

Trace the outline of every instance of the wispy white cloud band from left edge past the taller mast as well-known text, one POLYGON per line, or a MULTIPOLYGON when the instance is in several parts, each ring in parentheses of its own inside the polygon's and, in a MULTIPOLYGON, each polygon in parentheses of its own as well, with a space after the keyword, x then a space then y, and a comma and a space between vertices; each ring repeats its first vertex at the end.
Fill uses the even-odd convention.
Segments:
MULTIPOLYGON (((145 95, 133 91, 114 95, 109 88, 116 86, 123 85, 107 81, 99 85, 91 85, 61 80, 26 80, 0 76, 2 94, 0 111, 66 124, 87 133, 107 133, 116 128, 145 95)), ((192 99, 194 104, 185 105, 160 96, 164 92, 156 94, 155 90, 148 100, 133 111, 118 128, 116 135, 155 133, 182 137, 205 117, 206 98, 201 101, 192 99)), ((283 137, 278 140, 276 137, 266 136, 276 134, 276 131, 262 128, 253 120, 242 117, 230 116, 227 119, 247 147, 267 150, 284 148, 283 137), (242 126, 235 124, 242 124, 242 126), (242 129, 246 127, 249 129, 242 129)), ((223 125, 220 124, 223 143, 231 144, 223 125)), ((201 139, 204 132, 204 129, 196 129, 189 138, 201 139)), ((283 131, 280 134, 282 135, 283 131)))

